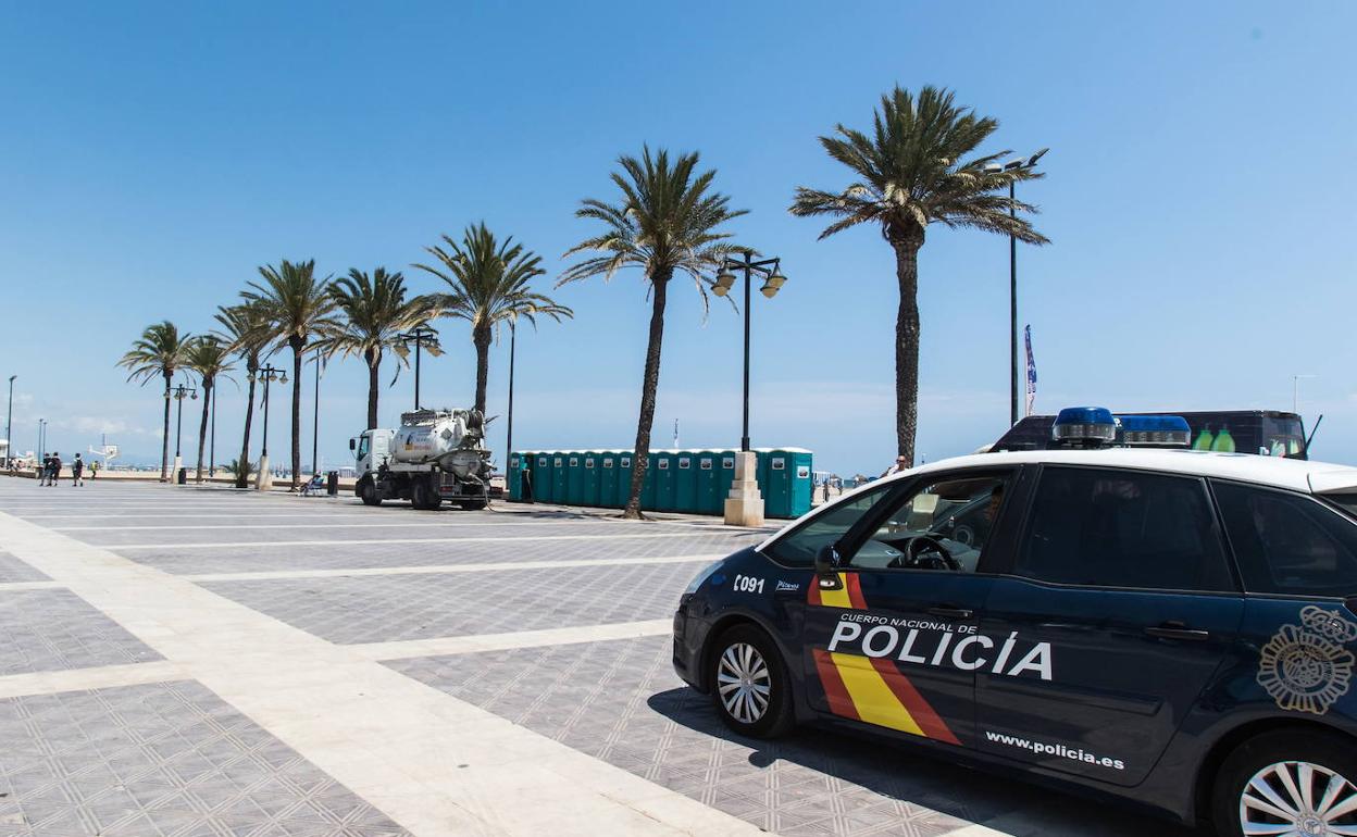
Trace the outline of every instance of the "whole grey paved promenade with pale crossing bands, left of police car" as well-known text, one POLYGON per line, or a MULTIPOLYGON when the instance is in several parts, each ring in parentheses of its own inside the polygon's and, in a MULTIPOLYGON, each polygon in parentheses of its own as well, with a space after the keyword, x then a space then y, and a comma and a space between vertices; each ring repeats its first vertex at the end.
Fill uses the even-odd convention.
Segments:
POLYGON ((0 836, 1186 834, 727 733, 670 616, 763 536, 0 478, 0 836))

